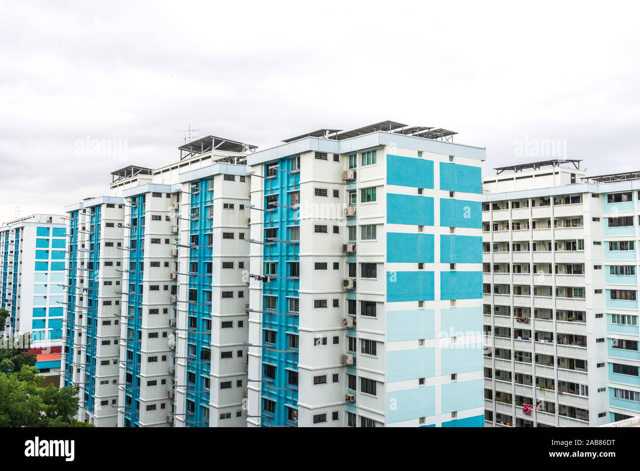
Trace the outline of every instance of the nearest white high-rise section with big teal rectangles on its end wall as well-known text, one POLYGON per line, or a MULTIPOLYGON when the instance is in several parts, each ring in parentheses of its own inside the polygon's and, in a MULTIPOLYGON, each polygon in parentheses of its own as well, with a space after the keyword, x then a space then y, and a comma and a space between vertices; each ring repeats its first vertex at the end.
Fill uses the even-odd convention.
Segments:
POLYGON ((485 150, 453 134, 383 122, 248 156, 250 426, 483 426, 485 150))

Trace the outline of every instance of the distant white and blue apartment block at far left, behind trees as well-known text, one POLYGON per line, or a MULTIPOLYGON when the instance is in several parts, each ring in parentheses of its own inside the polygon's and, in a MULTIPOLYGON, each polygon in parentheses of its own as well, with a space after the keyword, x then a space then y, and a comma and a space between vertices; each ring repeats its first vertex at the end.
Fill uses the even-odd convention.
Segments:
POLYGON ((56 214, 31 214, 0 227, 2 336, 31 333, 31 346, 60 351, 64 299, 65 225, 56 214))

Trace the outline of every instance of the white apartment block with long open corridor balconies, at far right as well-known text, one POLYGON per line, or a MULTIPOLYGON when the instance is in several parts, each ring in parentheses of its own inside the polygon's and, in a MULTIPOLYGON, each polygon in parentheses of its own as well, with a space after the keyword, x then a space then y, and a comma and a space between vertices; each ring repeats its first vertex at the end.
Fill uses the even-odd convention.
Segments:
POLYGON ((579 160, 483 178, 486 426, 600 426, 640 413, 640 174, 579 160))

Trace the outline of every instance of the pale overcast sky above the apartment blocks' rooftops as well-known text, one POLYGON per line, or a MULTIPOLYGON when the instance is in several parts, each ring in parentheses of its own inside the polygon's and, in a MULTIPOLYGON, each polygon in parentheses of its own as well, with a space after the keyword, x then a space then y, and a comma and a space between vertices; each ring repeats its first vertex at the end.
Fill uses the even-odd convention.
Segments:
MULTIPOLYGON (((561 140, 589 175, 640 170, 632 4, 3 3, 0 223, 177 160, 179 131, 258 145, 382 120, 457 131, 483 173, 561 140), (87 138, 120 140, 92 156, 87 138)), ((544 156, 542 156, 544 157, 544 156)))

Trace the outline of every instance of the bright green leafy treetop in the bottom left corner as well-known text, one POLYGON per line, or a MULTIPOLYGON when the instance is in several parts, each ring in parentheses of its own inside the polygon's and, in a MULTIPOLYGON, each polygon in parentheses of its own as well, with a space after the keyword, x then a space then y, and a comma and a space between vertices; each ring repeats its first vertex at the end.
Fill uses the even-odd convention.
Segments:
POLYGON ((0 372, 0 427, 85 427, 74 419, 78 410, 77 386, 38 387, 44 376, 33 366, 0 372))

